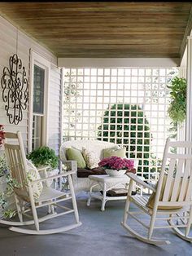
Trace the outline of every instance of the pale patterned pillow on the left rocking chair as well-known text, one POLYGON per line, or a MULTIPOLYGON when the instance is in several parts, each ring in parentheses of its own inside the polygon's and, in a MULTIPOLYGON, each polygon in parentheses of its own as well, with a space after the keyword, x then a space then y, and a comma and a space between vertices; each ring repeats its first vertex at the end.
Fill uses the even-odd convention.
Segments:
MULTIPOLYGON (((31 161, 28 161, 28 159, 26 159, 26 161, 28 165, 27 178, 30 181, 41 179, 41 176, 38 173, 37 168, 33 165, 33 163, 31 161)), ((39 196, 41 195, 41 192, 42 192, 42 188, 43 186, 41 182, 33 184, 32 190, 33 190, 34 201, 37 201, 39 199, 39 196)))

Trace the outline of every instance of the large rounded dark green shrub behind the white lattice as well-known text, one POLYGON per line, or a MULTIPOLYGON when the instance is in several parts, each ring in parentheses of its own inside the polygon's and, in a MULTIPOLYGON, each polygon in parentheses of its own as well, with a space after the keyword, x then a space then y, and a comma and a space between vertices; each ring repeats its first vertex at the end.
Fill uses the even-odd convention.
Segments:
MULTIPOLYGON (((98 140, 102 137, 104 141, 111 137, 111 142, 127 145, 129 157, 140 158, 139 166, 144 166, 143 172, 149 172, 151 132, 149 122, 138 105, 114 104, 108 108, 104 113, 103 125, 98 127, 98 140)), ((142 167, 139 167, 138 172, 141 170, 142 167)))

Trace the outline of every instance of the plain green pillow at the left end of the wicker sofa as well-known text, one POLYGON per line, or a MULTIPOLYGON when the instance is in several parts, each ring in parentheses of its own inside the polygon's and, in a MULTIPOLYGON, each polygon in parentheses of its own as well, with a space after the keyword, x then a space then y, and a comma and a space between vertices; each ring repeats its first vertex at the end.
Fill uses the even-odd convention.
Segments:
POLYGON ((85 168, 86 163, 85 159, 82 156, 82 153, 80 150, 76 148, 67 148, 66 149, 66 155, 68 157, 68 160, 75 160, 78 168, 85 168))

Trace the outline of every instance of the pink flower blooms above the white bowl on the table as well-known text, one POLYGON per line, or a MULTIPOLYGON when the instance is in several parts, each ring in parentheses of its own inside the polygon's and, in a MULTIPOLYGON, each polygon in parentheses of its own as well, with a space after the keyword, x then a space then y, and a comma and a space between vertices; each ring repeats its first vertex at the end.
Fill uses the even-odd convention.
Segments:
POLYGON ((134 161, 121 157, 107 157, 103 158, 98 163, 98 166, 103 167, 103 169, 132 170, 134 168, 134 161))

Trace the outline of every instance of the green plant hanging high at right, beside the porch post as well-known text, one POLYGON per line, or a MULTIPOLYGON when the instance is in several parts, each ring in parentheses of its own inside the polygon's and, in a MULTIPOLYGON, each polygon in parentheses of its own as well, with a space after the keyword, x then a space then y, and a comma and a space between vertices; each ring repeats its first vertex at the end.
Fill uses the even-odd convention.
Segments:
POLYGON ((173 122, 181 124, 186 117, 186 79, 180 77, 172 78, 170 90, 171 103, 168 107, 168 115, 173 122))

